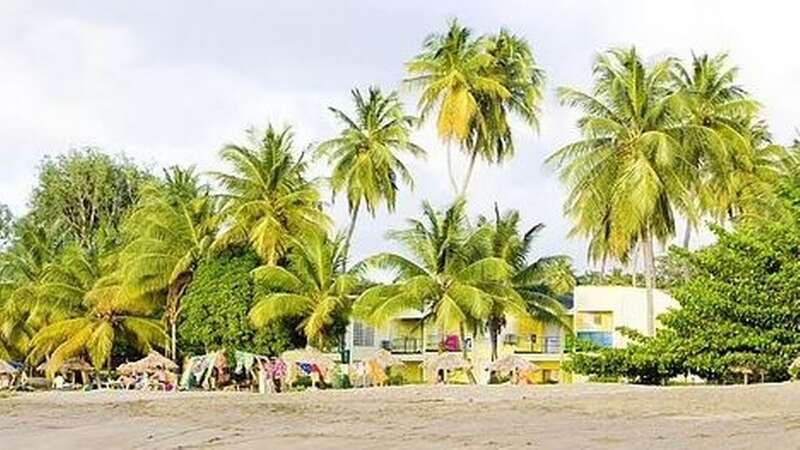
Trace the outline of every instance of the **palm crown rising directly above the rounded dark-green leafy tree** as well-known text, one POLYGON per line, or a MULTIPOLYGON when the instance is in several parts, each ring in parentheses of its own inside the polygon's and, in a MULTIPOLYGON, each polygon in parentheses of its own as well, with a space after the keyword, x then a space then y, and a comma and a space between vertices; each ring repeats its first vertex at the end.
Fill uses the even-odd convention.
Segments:
POLYGON ((222 159, 233 170, 214 173, 222 185, 225 222, 217 247, 249 244, 261 259, 275 265, 286 253, 292 236, 327 229, 314 183, 305 179, 303 155, 293 156, 289 127, 270 125, 262 137, 249 133, 251 145, 228 145, 222 159))

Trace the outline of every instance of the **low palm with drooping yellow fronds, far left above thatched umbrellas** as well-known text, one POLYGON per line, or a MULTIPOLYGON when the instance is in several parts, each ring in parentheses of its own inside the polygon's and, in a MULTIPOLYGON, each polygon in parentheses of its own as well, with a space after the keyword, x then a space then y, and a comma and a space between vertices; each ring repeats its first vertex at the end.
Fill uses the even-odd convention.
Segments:
POLYGON ((37 364, 48 357, 48 376, 74 357, 88 356, 97 369, 110 364, 114 345, 121 341, 147 353, 168 340, 159 321, 150 318, 155 303, 127 296, 117 276, 98 280, 85 302, 89 309, 84 315, 47 325, 31 341, 28 361, 37 364))

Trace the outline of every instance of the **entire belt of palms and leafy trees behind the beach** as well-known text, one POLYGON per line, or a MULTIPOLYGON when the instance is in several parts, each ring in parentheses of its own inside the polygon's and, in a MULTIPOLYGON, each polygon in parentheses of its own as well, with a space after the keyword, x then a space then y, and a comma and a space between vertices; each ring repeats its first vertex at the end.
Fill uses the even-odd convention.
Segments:
MULTIPOLYGON (((512 121, 538 128, 544 72, 530 45, 453 21, 406 70, 416 116, 396 92, 354 89, 351 108, 330 108, 340 131, 308 151, 291 127, 267 124, 224 146, 224 168, 210 174, 156 174, 96 149, 46 158, 27 213, 0 208, 0 358, 46 360, 52 373, 71 357, 102 367, 152 347, 174 359, 332 347, 351 316, 381 324, 407 308, 427 314, 424 326, 486 332, 494 347, 508 316, 563 322, 557 297, 576 279, 567 258, 531 257, 543 225, 497 206, 466 212, 475 164, 513 158, 512 121), (390 232, 403 252, 351 261, 359 214, 391 212, 413 187, 408 162, 426 154, 414 133, 429 121, 446 148, 452 203, 425 202, 390 232), (460 177, 454 150, 468 162, 460 177), (329 164, 324 183, 309 176, 312 160, 329 164), (348 224, 328 215, 328 194, 346 199, 348 224), (391 282, 374 283, 374 270, 391 282)), ((656 337, 650 312, 639 344, 577 355, 575 367, 644 382, 687 371, 722 380, 734 364, 785 377, 798 351, 790 256, 800 216, 785 206, 793 191, 779 202, 775 186, 796 183, 797 154, 772 142, 725 55, 648 64, 635 48, 611 49, 593 75, 591 89, 559 89, 581 111, 580 138, 548 162, 569 189, 572 233, 603 268, 578 282, 643 284, 650 311, 655 286, 674 286, 684 310, 656 337), (715 246, 657 264, 655 246, 679 219, 687 248, 706 221, 736 231, 717 228, 715 246), (633 275, 608 275, 607 263, 633 275)))

